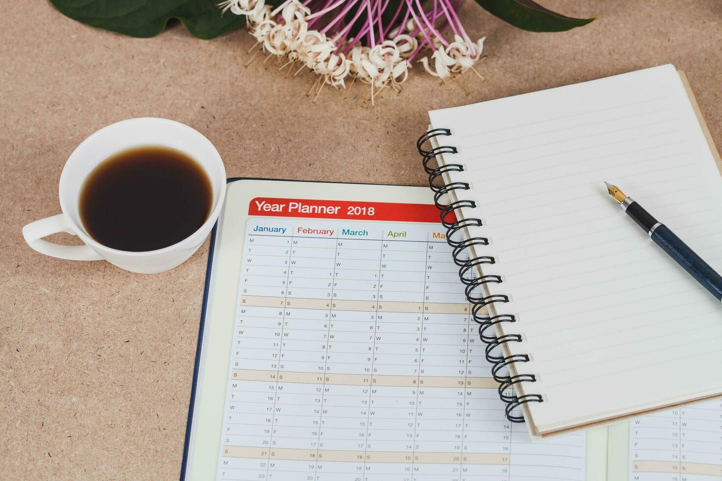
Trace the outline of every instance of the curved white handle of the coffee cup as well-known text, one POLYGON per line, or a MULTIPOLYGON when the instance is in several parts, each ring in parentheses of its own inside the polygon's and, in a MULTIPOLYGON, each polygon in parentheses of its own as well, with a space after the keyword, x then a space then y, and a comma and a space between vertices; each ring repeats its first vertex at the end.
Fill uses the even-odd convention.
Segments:
POLYGON ((87 244, 61 245, 43 240, 43 237, 58 232, 77 235, 66 222, 65 216, 58 213, 57 216, 30 222, 30 224, 22 228, 22 237, 25 237, 27 245, 40 252, 40 254, 68 260, 103 260, 103 257, 100 257, 87 244))

